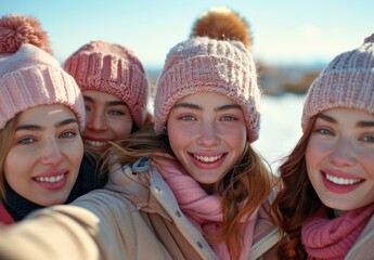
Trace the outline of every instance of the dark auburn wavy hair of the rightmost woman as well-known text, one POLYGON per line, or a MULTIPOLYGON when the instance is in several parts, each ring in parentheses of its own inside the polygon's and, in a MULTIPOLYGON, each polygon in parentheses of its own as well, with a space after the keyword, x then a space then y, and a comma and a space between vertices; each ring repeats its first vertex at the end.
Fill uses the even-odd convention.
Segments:
POLYGON ((301 224, 322 204, 309 181, 305 159, 314 122, 315 117, 279 168, 282 188, 271 206, 274 222, 284 235, 279 245, 279 259, 307 259, 301 244, 301 224))

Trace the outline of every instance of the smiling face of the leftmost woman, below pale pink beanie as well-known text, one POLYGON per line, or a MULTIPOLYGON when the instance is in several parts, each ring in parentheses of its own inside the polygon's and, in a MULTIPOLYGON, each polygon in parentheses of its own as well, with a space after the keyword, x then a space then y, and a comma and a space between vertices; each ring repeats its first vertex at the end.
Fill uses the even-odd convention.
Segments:
POLYGON ((35 204, 63 204, 77 180, 82 156, 79 125, 69 108, 33 107, 17 119, 4 164, 5 180, 35 204))

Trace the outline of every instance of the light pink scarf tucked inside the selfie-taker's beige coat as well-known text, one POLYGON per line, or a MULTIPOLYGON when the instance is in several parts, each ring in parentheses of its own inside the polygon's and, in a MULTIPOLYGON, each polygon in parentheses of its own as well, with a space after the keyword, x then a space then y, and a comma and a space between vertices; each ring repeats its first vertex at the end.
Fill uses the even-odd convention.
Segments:
MULTIPOLYGON (((164 170, 159 169, 163 179, 173 192, 179 207, 186 218, 204 234, 211 235, 223 220, 221 198, 208 195, 199 184, 184 170, 170 164, 165 164, 164 170)), ((253 242, 256 212, 245 223, 245 237, 240 259, 246 259, 253 242)), ((211 245, 219 259, 231 259, 227 243, 211 245)))

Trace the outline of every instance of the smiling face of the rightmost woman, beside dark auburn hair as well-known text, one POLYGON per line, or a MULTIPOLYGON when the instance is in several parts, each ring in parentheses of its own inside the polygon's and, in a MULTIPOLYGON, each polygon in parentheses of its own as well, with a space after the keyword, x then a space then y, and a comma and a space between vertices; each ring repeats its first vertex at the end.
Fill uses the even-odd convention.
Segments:
POLYGON ((374 202, 374 115, 321 113, 306 151, 309 179, 324 205, 351 210, 374 202))

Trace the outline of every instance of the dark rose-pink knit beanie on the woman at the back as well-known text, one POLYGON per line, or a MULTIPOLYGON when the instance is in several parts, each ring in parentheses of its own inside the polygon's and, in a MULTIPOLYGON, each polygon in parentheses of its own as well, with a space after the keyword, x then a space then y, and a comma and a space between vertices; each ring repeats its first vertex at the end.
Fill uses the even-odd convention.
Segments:
POLYGON ((96 90, 118 96, 128 105, 136 125, 143 126, 147 80, 132 51, 119 44, 92 41, 66 60, 65 69, 82 91, 96 90))

